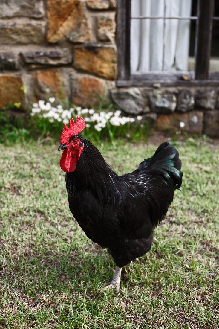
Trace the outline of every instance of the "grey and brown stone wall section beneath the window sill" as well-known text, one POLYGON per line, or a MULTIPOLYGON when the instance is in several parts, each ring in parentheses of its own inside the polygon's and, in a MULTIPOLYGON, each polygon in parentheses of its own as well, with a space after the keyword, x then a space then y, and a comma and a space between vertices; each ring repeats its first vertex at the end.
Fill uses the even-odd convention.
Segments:
POLYGON ((219 137, 218 87, 112 89, 112 100, 126 113, 141 115, 161 130, 180 129, 195 135, 219 137))

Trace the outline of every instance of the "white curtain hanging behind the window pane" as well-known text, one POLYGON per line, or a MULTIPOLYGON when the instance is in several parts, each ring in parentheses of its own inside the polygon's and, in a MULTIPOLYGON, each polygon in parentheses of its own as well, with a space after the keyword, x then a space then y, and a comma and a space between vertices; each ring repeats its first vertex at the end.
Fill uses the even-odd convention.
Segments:
MULTIPOLYGON (((184 16, 192 0, 132 0, 131 16, 184 16)), ((132 19, 131 72, 186 71, 190 20, 132 19)))

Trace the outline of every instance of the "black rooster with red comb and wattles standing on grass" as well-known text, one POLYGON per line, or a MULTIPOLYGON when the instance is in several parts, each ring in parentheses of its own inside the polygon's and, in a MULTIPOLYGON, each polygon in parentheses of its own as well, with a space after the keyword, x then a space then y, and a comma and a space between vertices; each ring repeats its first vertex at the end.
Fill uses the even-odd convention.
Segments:
POLYGON ((119 291, 122 267, 151 249, 154 228, 182 184, 181 160, 172 145, 162 143, 136 170, 118 176, 79 135, 84 128, 83 118, 72 119, 60 138, 69 208, 87 237, 109 249, 116 270, 105 289, 119 291))

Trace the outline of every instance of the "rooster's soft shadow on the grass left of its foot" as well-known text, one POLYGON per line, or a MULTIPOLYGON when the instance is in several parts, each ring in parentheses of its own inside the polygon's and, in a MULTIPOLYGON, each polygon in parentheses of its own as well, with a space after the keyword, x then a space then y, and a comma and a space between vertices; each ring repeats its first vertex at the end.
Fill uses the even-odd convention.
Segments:
MULTIPOLYGON (((93 250, 60 251, 53 250, 44 253, 26 251, 23 257, 14 257, 0 267, 1 285, 16 289, 17 293, 37 297, 39 294, 78 293, 81 290, 95 291, 101 288, 101 282, 107 282, 113 275, 107 250, 99 250, 94 255, 93 250), (104 257, 105 253, 105 257, 104 257)), ((97 250, 96 250, 97 251, 97 250)))

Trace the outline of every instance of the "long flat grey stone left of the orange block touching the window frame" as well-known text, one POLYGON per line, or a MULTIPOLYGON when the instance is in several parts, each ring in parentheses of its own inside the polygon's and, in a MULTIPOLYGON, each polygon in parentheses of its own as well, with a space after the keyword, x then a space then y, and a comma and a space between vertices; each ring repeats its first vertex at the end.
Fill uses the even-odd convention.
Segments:
POLYGON ((37 51, 22 52, 21 55, 27 64, 65 65, 72 63, 72 54, 66 48, 42 48, 37 51))

